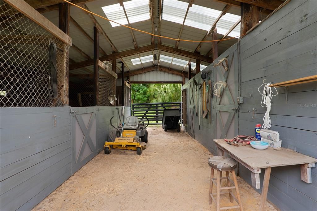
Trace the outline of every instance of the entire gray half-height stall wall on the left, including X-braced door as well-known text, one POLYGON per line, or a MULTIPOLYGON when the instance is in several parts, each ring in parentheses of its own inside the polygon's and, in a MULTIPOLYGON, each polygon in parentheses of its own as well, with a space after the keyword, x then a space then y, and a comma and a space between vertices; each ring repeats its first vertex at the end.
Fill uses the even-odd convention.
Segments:
POLYGON ((33 208, 102 151, 112 116, 116 126, 117 107, 1 108, 1 210, 33 208))

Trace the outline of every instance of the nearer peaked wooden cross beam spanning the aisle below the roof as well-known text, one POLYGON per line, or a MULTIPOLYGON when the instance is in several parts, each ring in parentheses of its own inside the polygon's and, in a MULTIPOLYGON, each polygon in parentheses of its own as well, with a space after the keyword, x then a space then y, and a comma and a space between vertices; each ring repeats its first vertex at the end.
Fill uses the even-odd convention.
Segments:
MULTIPOLYGON (((186 56, 186 57, 189 57, 192 59, 199 59, 201 61, 206 61, 206 62, 210 62, 210 63, 212 62, 211 57, 200 55, 197 53, 192 53, 192 52, 181 50, 181 49, 176 49, 176 48, 173 48, 170 46, 160 45, 160 44, 151 44, 151 45, 147 45, 147 46, 143 46, 143 47, 139 47, 139 48, 133 48, 133 49, 126 50, 126 51, 109 54, 107 56, 101 56, 99 59, 100 59, 100 61, 109 61, 109 60, 112 60, 113 58, 122 58, 122 57, 130 56, 133 54, 139 54, 142 52, 151 51, 154 49, 159 49, 161 51, 186 56)), ((69 66, 69 69, 72 70, 72 69, 76 69, 79 67, 86 67, 86 66, 92 65, 92 64, 94 64, 94 61, 92 59, 90 59, 90 60, 86 60, 86 61, 77 62, 76 64, 72 64, 69 66)))

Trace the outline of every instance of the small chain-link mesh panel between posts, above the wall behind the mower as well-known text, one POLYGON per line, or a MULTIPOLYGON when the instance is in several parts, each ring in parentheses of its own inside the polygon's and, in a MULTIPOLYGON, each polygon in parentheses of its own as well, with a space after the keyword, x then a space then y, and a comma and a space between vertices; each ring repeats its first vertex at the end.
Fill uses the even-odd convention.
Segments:
MULTIPOLYGON (((108 71, 112 71, 111 66, 105 66, 108 71)), ((98 82, 98 105, 113 106, 116 100, 110 101, 108 98, 116 93, 116 78, 107 73, 103 68, 99 67, 99 82, 98 82), (112 102, 113 104, 111 104, 112 102)), ((114 98, 114 96, 113 96, 114 98)))

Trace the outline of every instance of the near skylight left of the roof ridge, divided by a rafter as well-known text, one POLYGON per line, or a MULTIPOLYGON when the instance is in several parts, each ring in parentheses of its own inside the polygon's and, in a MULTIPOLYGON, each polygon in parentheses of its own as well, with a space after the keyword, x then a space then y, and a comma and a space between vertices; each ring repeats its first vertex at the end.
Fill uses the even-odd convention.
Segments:
MULTIPOLYGON (((150 19, 149 2, 147 0, 132 0, 124 2, 123 4, 130 23, 150 19)), ((123 25, 128 24, 124 10, 119 3, 101 7, 101 9, 104 11, 108 19, 123 25)), ((120 26, 119 24, 111 21, 110 24, 112 27, 120 26)))

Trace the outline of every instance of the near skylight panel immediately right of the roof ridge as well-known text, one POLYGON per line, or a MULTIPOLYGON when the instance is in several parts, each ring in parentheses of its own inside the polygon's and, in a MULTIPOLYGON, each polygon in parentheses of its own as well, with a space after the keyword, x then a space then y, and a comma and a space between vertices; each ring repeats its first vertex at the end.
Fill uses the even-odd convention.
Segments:
POLYGON ((187 2, 164 0, 162 19, 183 24, 187 7, 187 2))

